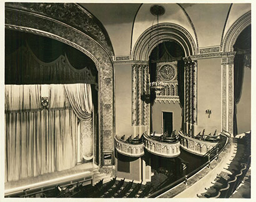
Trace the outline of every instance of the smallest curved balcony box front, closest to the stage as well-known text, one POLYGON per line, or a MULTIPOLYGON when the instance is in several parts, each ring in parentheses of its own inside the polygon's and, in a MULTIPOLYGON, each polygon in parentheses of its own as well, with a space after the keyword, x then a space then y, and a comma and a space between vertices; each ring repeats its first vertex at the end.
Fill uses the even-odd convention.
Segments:
POLYGON ((115 137, 116 150, 125 156, 140 157, 144 155, 144 143, 142 140, 133 139, 129 142, 122 140, 119 137, 115 137))

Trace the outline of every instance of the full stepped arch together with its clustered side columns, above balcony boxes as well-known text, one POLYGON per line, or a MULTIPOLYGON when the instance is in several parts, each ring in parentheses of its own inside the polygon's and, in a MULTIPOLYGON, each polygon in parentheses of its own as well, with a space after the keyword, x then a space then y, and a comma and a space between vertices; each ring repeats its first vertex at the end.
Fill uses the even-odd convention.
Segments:
MULTIPOLYGON (((197 68, 195 67, 196 63, 192 62, 190 55, 197 54, 197 45, 191 36, 191 34, 182 26, 177 24, 165 22, 154 25, 146 29, 139 37, 135 43, 134 50, 132 52, 132 60, 134 60, 134 65, 132 65, 132 125, 141 126, 144 125, 149 131, 150 123, 150 105, 149 103, 138 99, 142 96, 143 92, 147 90, 148 80, 149 80, 149 55, 152 50, 157 47, 160 43, 165 41, 173 41, 182 47, 185 53, 185 65, 191 66, 194 68, 194 78, 197 77, 196 72, 197 68), (192 65, 191 65, 192 64, 192 65), (137 74, 139 75, 137 77, 137 74), (144 88, 144 89, 143 89, 144 88), (136 102, 138 100, 138 102, 136 102)), ((190 67, 189 67, 190 69, 190 67)), ((196 79, 194 80, 193 85, 196 89, 196 79)), ((189 95, 188 95, 189 96, 189 95)), ((190 97, 192 99, 192 97, 190 97)), ((197 97, 193 98, 195 112, 197 111, 197 97)), ((189 110, 189 109, 188 109, 189 110)), ((192 113, 192 109, 190 110, 192 113)), ((191 114, 190 113, 190 114, 191 114)), ((191 124, 196 124, 196 121, 191 124)))

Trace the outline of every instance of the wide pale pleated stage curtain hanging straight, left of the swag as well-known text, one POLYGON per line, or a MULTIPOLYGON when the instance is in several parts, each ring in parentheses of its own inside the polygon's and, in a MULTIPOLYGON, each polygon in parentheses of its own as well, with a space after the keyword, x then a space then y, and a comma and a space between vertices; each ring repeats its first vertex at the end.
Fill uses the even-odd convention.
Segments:
POLYGON ((50 86, 48 109, 39 104, 40 89, 40 85, 6 85, 5 181, 76 165, 77 117, 67 98, 60 98, 61 92, 65 96, 64 86, 50 86))

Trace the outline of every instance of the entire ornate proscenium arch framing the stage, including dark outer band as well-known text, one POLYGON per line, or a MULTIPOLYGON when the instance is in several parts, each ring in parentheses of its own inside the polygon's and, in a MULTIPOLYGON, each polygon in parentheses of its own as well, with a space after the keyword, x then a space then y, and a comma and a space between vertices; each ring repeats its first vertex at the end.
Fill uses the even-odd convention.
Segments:
POLYGON ((78 4, 6 3, 6 29, 64 42, 96 64, 99 72, 99 165, 105 173, 112 173, 112 165, 104 166, 102 154, 114 150, 113 52, 109 37, 95 22, 78 4))

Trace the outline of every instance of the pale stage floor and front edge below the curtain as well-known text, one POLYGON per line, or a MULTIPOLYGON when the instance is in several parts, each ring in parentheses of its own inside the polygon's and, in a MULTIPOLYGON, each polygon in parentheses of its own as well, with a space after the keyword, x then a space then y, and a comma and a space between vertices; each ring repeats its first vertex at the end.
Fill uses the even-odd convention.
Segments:
POLYGON ((94 184, 101 178, 101 175, 98 167, 93 163, 82 163, 68 170, 46 173, 17 181, 7 181, 4 184, 4 195, 7 197, 15 196, 19 193, 31 195, 32 193, 51 190, 57 185, 67 186, 75 183, 94 184))

